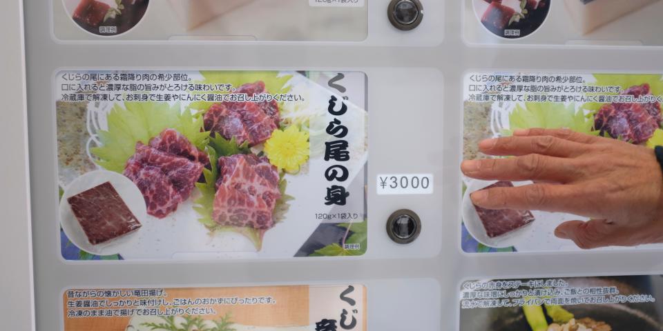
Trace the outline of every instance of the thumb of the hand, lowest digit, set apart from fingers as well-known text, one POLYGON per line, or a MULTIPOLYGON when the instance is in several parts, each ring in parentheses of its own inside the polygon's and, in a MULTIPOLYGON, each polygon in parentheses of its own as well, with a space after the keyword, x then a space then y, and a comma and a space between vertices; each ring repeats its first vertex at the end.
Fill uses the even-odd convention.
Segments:
POLYGON ((612 245, 614 225, 606 219, 592 219, 590 221, 568 221, 561 223, 555 229, 555 236, 561 239, 570 239, 579 248, 590 250, 612 245))

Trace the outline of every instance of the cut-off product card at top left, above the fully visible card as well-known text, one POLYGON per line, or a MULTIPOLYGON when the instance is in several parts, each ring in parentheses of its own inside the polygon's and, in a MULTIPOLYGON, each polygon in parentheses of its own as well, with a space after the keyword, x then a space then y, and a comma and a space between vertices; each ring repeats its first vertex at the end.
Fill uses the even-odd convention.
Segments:
POLYGON ((55 38, 363 41, 367 1, 52 0, 55 38))

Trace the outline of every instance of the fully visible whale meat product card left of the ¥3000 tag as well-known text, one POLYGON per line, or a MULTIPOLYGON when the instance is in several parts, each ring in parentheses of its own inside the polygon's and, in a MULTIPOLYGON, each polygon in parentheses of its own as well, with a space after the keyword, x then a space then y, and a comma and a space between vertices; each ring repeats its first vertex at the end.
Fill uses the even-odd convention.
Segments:
POLYGON ((62 257, 363 254, 365 86, 362 72, 57 72, 62 257))

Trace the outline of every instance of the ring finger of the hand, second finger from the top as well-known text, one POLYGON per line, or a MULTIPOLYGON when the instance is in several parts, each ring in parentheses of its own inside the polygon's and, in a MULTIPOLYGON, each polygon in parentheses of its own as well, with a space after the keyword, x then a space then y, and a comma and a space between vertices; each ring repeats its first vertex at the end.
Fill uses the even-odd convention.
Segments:
POLYGON ((479 143, 479 150, 488 155, 521 156, 542 154, 551 157, 574 157, 586 152, 587 145, 553 136, 503 137, 479 143))

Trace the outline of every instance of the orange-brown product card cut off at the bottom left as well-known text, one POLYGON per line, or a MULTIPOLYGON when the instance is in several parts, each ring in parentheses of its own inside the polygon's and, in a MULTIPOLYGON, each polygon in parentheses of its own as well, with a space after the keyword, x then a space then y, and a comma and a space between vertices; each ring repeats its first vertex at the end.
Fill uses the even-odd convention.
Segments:
POLYGON ((68 289, 64 331, 367 330, 363 285, 68 289))

